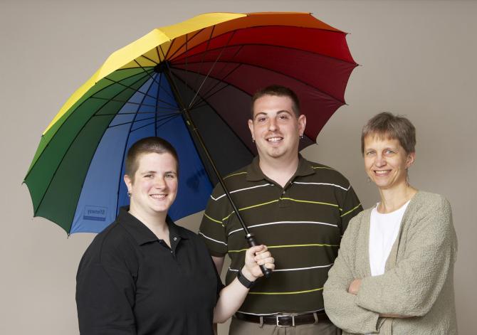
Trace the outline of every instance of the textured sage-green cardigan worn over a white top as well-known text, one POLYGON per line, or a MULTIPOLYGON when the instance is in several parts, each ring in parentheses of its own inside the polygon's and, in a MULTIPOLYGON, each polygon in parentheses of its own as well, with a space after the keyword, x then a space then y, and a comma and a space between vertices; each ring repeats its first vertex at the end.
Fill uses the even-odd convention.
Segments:
POLYGON ((457 334, 451 206, 419 191, 409 202, 383 275, 369 270, 372 208, 352 218, 323 289, 325 310, 343 334, 457 334), (347 292, 362 278, 357 295, 347 292), (395 314, 407 318, 382 318, 395 314))

